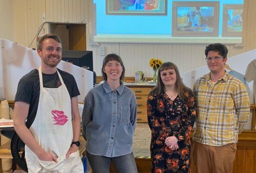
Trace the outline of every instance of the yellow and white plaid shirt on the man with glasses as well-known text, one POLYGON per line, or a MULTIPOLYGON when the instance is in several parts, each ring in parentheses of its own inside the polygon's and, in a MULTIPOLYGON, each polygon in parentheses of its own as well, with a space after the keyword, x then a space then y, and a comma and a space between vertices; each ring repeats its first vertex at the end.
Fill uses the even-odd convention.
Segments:
POLYGON ((197 128, 193 140, 219 146, 237 143, 249 119, 249 97, 245 84, 228 72, 215 84, 210 73, 197 79, 193 87, 197 97, 197 128))

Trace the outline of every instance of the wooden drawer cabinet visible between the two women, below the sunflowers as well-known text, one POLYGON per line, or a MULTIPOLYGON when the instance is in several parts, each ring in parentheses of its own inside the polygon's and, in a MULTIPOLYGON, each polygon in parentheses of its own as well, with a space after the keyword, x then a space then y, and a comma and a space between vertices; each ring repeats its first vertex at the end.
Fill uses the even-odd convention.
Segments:
POLYGON ((137 122, 148 122, 147 99, 154 85, 126 85, 131 88, 137 99, 137 122))

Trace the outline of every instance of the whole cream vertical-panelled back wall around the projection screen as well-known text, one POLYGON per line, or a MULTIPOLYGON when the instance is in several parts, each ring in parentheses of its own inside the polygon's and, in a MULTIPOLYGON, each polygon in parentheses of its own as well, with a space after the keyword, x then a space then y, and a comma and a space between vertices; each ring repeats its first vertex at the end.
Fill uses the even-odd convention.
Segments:
MULTIPOLYGON (((148 64, 150 58, 172 61, 181 74, 206 65, 205 44, 93 43, 94 6, 93 0, 0 0, 0 37, 29 46, 44 22, 86 23, 87 50, 93 51, 97 76, 101 75, 100 45, 105 46, 105 55, 120 55, 126 67, 126 76, 134 76, 135 71, 142 70, 146 77, 152 77, 153 70, 148 64)), ((244 0, 244 8, 243 47, 227 45, 229 57, 256 48, 256 1, 244 0)), ((40 35, 48 33, 48 30, 48 24, 45 24, 40 35)), ((31 47, 36 47, 36 39, 31 47)))

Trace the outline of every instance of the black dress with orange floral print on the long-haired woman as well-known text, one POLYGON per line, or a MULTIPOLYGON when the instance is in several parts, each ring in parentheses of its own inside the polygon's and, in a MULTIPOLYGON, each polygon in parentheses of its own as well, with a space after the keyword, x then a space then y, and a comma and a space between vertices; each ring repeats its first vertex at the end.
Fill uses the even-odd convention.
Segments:
POLYGON ((151 129, 150 153, 152 172, 190 172, 190 131, 196 118, 196 100, 191 90, 184 103, 179 96, 170 100, 166 92, 149 94, 147 109, 151 129), (167 137, 178 139, 179 149, 164 144, 167 137))

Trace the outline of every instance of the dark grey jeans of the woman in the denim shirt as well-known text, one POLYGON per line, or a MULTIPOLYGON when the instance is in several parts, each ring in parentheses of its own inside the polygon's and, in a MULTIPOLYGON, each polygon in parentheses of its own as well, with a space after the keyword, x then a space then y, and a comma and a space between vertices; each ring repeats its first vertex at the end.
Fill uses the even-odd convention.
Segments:
POLYGON ((92 155, 86 151, 86 156, 93 173, 108 173, 112 162, 118 172, 137 173, 135 158, 131 152, 128 155, 118 157, 105 157, 92 155))

